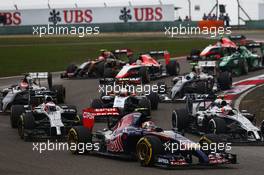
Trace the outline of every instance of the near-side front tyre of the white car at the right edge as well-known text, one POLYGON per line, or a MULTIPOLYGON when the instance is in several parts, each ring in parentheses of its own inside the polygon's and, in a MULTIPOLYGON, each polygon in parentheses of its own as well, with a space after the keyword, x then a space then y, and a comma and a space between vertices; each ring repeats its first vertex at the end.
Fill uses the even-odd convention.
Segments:
POLYGON ((226 133, 226 122, 221 118, 213 118, 208 123, 208 132, 213 134, 226 133))

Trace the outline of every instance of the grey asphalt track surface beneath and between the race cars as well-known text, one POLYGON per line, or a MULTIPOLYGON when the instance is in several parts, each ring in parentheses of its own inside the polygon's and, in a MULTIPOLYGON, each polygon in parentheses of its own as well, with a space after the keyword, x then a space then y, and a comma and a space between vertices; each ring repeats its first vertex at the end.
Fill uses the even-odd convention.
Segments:
MULTIPOLYGON (((186 60, 179 60, 181 73, 188 72, 190 65, 186 60)), ((234 78, 242 80, 263 74, 264 70, 251 72, 247 76, 234 78)), ((19 78, 0 79, 0 87, 17 83, 19 78)), ((170 82, 171 78, 164 81, 170 82)), ((67 90, 66 101, 74 104, 78 110, 89 106, 91 99, 98 97, 98 80, 61 80, 54 77, 56 84, 63 84, 67 90)), ((182 104, 160 104, 159 110, 154 111, 152 119, 162 128, 171 128, 171 112, 182 107, 182 104)), ((198 137, 186 135, 197 140, 198 137)), ((74 156, 68 151, 33 151, 31 142, 20 140, 16 129, 11 129, 8 115, 0 115, 0 174, 38 175, 156 175, 156 174, 261 174, 264 172, 264 147, 243 146, 232 147, 232 153, 238 155, 237 165, 219 166, 217 168, 193 167, 177 170, 141 167, 138 162, 116 160, 112 158, 81 155, 74 156)))

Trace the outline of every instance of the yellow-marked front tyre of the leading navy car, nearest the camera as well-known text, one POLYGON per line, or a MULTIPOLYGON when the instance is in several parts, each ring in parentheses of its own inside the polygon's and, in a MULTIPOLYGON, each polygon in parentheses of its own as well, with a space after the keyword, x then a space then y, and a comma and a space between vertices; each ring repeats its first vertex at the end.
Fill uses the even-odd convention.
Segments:
POLYGON ((153 166, 155 157, 161 154, 163 145, 156 136, 144 136, 137 142, 137 158, 141 166, 153 166))

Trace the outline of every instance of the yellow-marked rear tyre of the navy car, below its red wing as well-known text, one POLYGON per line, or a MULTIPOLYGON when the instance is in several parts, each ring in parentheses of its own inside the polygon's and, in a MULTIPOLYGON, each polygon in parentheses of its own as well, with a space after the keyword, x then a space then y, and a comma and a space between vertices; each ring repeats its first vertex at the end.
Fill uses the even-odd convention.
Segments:
POLYGON ((68 133, 68 144, 72 154, 84 154, 92 150, 86 144, 92 144, 92 132, 84 126, 74 126, 68 133))

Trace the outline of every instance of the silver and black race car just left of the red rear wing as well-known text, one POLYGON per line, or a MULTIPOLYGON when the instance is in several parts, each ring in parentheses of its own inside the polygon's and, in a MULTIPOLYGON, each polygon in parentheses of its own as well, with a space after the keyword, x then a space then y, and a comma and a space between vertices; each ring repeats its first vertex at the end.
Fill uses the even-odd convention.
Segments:
POLYGON ((56 105, 52 97, 32 109, 32 106, 16 106, 19 116, 18 134, 25 141, 33 139, 65 139, 71 127, 80 125, 81 118, 75 106, 56 105))

